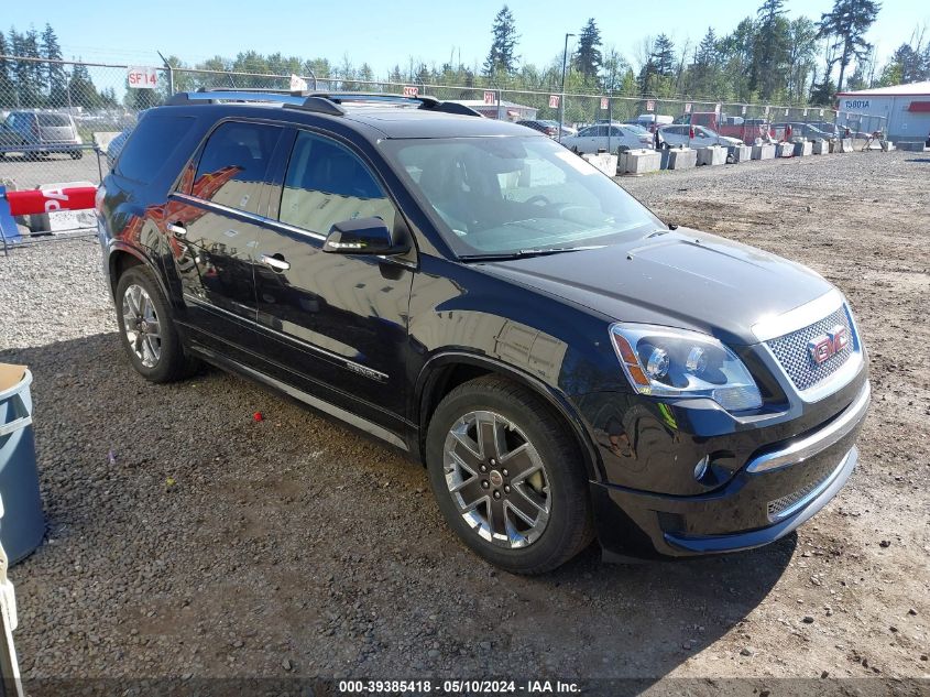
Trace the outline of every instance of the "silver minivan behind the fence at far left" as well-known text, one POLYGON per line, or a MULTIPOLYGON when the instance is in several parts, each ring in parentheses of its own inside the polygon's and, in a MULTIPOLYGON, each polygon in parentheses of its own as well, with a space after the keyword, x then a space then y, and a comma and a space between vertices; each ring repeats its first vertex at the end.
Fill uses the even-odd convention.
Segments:
POLYGON ((10 152, 28 156, 67 153, 80 160, 83 141, 69 113, 58 111, 11 111, 0 124, 0 157, 10 152), (18 150, 23 149, 23 150, 18 150))

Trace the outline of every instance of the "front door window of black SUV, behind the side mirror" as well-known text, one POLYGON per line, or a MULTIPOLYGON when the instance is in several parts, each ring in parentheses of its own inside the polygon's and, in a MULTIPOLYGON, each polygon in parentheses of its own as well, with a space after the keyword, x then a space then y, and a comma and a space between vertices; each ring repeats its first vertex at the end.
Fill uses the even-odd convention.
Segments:
POLYGON ((291 153, 278 217, 319 235, 353 218, 376 217, 394 227, 394 207, 362 161, 342 145, 304 131, 291 153))

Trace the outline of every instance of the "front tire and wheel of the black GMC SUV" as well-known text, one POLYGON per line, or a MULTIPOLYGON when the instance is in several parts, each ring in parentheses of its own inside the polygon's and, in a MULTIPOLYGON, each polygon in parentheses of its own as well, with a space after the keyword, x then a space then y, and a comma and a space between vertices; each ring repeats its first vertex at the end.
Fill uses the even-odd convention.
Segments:
POLYGON ((426 462, 448 525, 507 571, 549 571, 593 538, 577 445, 550 406, 515 382, 479 378, 446 395, 429 422, 426 462))

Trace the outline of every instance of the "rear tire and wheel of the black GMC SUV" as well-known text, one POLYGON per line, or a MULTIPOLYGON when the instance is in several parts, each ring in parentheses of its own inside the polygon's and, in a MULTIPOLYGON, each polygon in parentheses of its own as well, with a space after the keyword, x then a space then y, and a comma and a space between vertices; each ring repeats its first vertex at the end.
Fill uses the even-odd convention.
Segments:
POLYGON ((151 271, 130 266, 117 283, 116 305, 120 339, 139 374, 151 382, 174 382, 196 370, 151 271))

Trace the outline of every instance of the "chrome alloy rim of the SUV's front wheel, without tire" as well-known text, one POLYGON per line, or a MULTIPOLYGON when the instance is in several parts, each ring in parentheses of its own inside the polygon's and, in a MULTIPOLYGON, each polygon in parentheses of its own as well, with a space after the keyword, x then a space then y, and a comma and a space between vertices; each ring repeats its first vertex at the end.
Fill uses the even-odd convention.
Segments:
POLYGON ((478 535, 505 548, 539 538, 549 521, 549 478, 513 423, 494 412, 469 412, 449 429, 444 460, 452 500, 478 535))

